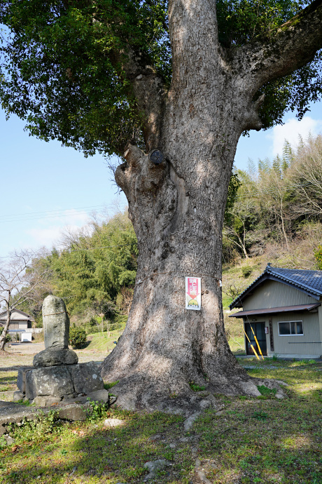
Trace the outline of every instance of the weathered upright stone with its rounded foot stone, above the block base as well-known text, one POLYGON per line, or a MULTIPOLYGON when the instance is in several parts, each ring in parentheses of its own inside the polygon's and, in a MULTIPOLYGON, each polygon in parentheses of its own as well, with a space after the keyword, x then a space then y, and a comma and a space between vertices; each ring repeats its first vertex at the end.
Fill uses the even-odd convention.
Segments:
POLYGON ((34 366, 76 365, 78 356, 69 349, 69 316, 61 297, 49 295, 43 301, 45 349, 34 356, 34 366))

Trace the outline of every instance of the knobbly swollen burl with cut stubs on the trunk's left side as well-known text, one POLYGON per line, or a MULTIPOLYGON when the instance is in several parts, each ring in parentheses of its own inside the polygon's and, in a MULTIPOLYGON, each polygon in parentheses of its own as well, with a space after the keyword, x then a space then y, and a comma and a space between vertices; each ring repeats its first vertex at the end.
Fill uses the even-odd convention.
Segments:
POLYGON ((146 154, 129 144, 124 157, 125 163, 118 166, 115 176, 127 196, 138 241, 149 240, 146 246, 151 253, 162 252, 161 238, 167 236, 169 227, 174 229, 173 224, 176 227, 181 223, 180 214, 186 213, 184 182, 174 177, 171 163, 158 150, 146 154))

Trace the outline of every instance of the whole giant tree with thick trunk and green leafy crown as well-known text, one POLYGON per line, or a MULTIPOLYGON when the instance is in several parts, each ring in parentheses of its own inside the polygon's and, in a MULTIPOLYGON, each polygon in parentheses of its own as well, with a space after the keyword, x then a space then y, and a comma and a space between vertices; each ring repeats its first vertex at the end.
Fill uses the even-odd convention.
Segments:
POLYGON ((1 102, 32 135, 118 154, 139 245, 127 327, 102 375, 153 408, 188 382, 252 384, 221 307, 225 201, 241 133, 321 94, 322 5, 292 0, 11 0, 1 102), (157 150, 157 151, 156 151, 157 150), (185 309, 185 276, 202 308, 185 309))

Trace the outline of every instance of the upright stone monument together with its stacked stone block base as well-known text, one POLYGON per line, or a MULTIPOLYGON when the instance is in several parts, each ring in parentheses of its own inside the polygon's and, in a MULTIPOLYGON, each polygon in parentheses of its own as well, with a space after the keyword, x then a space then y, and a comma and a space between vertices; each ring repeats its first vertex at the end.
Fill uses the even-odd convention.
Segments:
MULTIPOLYGON (((50 295, 45 298, 43 328, 45 349, 34 356, 33 367, 19 368, 17 385, 20 391, 15 392, 15 401, 22 398, 35 405, 49 407, 59 402, 88 404, 87 398, 90 398, 111 404, 97 363, 88 361, 78 365, 77 354, 68 347, 69 317, 60 297, 50 295)), ((82 408, 80 410, 78 417, 85 419, 85 412, 82 408)), ((67 419, 76 419, 67 413, 67 419)))

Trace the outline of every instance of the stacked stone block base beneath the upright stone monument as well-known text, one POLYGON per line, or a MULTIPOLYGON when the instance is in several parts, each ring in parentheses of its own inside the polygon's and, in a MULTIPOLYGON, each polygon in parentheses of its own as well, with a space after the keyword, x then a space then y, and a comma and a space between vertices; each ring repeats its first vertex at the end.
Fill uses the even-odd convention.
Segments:
POLYGON ((18 371, 18 389, 14 399, 29 400, 41 407, 57 403, 109 401, 109 392, 99 375, 97 363, 57 365, 34 368, 22 367, 18 371))

